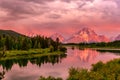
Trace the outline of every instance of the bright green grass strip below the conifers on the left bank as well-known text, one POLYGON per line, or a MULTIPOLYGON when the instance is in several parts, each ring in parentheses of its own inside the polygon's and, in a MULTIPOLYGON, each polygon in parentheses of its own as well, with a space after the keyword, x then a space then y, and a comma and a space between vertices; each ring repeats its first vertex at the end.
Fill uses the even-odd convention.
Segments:
MULTIPOLYGON (((2 51, 0 51, 2 53, 2 51)), ((30 49, 28 51, 24 50, 10 50, 5 52, 5 56, 1 57, 0 60, 7 59, 18 59, 18 58, 34 58, 39 56, 47 56, 47 55, 56 55, 56 54, 64 54, 61 51, 50 52, 49 48, 46 49, 30 49)))

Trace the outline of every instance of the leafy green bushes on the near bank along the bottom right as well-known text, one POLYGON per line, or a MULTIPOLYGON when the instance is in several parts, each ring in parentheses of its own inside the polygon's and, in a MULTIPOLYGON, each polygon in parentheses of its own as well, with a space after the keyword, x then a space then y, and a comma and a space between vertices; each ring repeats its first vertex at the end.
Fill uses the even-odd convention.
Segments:
MULTIPOLYGON (((39 80, 63 80, 55 77, 42 77, 39 80)), ((67 80, 120 80, 120 59, 107 63, 98 62, 92 65, 91 70, 70 68, 67 80)))

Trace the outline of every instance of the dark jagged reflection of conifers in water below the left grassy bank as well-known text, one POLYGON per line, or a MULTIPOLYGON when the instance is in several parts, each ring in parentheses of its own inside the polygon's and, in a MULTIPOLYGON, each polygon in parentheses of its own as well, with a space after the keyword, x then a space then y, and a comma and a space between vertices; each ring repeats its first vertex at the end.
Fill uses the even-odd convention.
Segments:
POLYGON ((60 55, 49 55, 49 56, 41 56, 36 58, 26 58, 26 59, 10 59, 10 60, 0 60, 0 66, 5 70, 10 70, 14 64, 18 64, 20 67, 27 66, 28 62, 32 64, 36 64, 39 67, 42 64, 51 63, 54 65, 55 63, 60 63, 62 58, 65 58, 66 54, 60 55))

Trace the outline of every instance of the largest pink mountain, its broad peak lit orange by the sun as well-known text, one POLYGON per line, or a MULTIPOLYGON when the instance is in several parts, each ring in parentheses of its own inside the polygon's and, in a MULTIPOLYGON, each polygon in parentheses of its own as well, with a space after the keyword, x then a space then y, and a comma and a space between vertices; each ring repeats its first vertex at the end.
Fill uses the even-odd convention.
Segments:
POLYGON ((92 43, 92 42, 109 42, 109 39, 104 35, 98 35, 94 30, 90 28, 83 28, 72 37, 70 37, 66 43, 92 43))

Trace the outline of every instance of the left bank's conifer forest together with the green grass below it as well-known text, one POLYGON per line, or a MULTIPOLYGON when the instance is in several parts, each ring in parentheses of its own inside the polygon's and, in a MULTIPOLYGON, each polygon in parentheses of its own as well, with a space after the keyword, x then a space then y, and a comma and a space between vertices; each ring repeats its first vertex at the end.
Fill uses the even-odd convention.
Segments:
POLYGON ((41 56, 41 53, 59 54, 65 51, 66 48, 61 45, 58 38, 53 41, 40 35, 28 37, 20 34, 0 34, 0 58, 4 60, 41 56))

